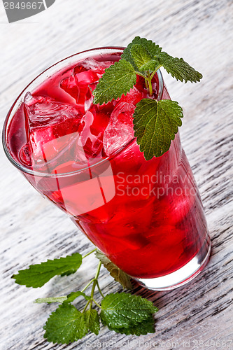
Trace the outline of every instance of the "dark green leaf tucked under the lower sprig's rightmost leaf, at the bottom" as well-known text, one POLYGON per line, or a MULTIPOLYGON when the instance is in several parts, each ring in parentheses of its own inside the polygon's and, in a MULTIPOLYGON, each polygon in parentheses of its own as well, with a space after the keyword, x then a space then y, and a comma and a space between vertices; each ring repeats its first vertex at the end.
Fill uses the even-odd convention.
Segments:
POLYGON ((115 332, 125 335, 146 335, 148 333, 155 333, 155 320, 153 316, 149 316, 143 322, 133 325, 132 327, 115 328, 111 330, 115 330, 115 332))

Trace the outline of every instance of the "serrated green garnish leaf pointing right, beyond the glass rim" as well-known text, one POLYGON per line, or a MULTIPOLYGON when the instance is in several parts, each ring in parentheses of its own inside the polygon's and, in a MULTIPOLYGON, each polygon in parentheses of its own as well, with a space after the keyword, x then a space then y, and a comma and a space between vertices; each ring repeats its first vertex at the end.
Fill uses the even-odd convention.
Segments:
POLYGON ((160 65, 176 80, 184 80, 185 83, 188 81, 197 83, 202 79, 202 74, 192 68, 183 58, 171 57, 166 52, 161 52, 158 58, 160 65))

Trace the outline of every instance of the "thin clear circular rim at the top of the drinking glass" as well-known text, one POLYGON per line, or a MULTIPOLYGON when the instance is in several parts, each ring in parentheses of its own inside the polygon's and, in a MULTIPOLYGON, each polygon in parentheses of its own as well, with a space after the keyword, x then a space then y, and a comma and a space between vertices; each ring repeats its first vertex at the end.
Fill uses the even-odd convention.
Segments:
MULTIPOLYGON (((94 163, 93 165, 89 165, 89 166, 85 166, 83 167, 82 169, 77 169, 77 170, 74 170, 73 172, 67 172, 67 173, 61 173, 61 174, 52 174, 52 173, 46 173, 46 172, 40 172, 40 171, 37 171, 37 170, 34 170, 34 169, 29 169, 27 167, 24 167, 24 165, 22 165, 20 162, 17 162, 17 160, 15 160, 13 158, 13 155, 11 155, 9 149, 8 149, 8 146, 7 146, 7 142, 6 142, 6 139, 7 139, 7 131, 8 131, 8 123, 11 121, 11 119, 13 118, 13 116, 15 115, 17 109, 14 111, 15 109, 15 106, 17 106, 17 103, 20 102, 20 99, 22 99, 22 97, 24 96, 24 94, 27 92, 27 89, 28 87, 35 83, 36 80, 38 80, 38 78, 40 78, 41 76, 43 76, 46 72, 50 71, 52 68, 55 68, 56 66, 59 66, 59 64, 62 64, 63 62, 66 62, 66 61, 69 61, 69 59, 73 59, 75 57, 77 57, 77 63, 79 62, 78 60, 78 56, 82 56, 82 55, 85 55, 86 53, 88 52, 93 52, 93 54, 95 52, 101 52, 103 50, 109 50, 109 53, 118 53, 118 52, 123 52, 123 50, 125 49, 125 47, 122 47, 122 46, 105 46, 105 47, 99 47, 99 48, 91 48, 91 49, 88 49, 88 50, 83 50, 83 51, 80 51, 80 52, 76 52, 75 54, 73 55, 70 55, 68 57, 65 57, 64 59, 60 59, 58 62, 56 62, 55 64, 52 64, 52 66, 49 66, 47 69, 45 69, 44 71, 42 71, 41 73, 39 73, 36 78, 34 78, 33 80, 31 80, 30 83, 27 84, 26 87, 24 87, 24 89, 22 90, 22 92, 20 92, 20 94, 17 96, 17 98, 15 99, 15 101, 13 102, 12 106, 10 107, 7 115, 6 115, 6 119, 3 123, 3 132, 2 132, 2 144, 3 144, 3 150, 4 152, 6 153, 6 157, 8 158, 8 160, 17 168, 19 169, 21 172, 23 173, 26 173, 26 174, 30 174, 30 175, 34 175, 34 176, 48 176, 48 177, 63 177, 63 176, 69 176, 69 175, 74 175, 74 174, 79 174, 80 172, 83 172, 85 171, 86 169, 92 169, 93 167, 97 167, 98 165, 100 165, 101 163, 103 162, 107 162, 109 161, 110 159, 112 158, 115 158, 116 155, 118 155, 120 152, 122 152, 125 148, 127 148, 127 146, 129 146, 129 144, 132 143, 132 141, 134 141, 136 138, 135 137, 132 137, 132 139, 130 139, 127 144, 123 145, 122 147, 118 148, 118 150, 116 150, 115 152, 113 152, 111 155, 108 155, 108 157, 106 158, 103 158, 101 160, 99 160, 98 162, 94 163), (11 118, 10 118, 11 117, 11 118)), ((88 55, 86 57, 83 57, 83 59, 87 58, 88 55)), ((81 58, 82 59, 82 58, 81 58)), ((75 64, 75 61, 72 62, 75 64)), ((68 65, 67 65, 68 66, 68 65)), ((59 70, 62 70, 66 68, 66 66, 62 66, 60 67, 59 69, 57 69, 57 71, 59 70)), ((158 78, 158 81, 159 81, 159 91, 158 91, 158 97, 157 99, 160 100, 161 97, 162 97, 162 93, 163 93, 163 90, 164 90, 164 80, 163 80, 163 77, 162 77, 162 73, 160 71, 160 69, 158 69, 156 71, 156 74, 157 74, 157 78, 158 78)), ((46 79, 46 78, 45 78, 46 79)), ((42 81, 45 81, 42 80, 42 81)), ((20 105, 19 105, 20 106, 20 105)))

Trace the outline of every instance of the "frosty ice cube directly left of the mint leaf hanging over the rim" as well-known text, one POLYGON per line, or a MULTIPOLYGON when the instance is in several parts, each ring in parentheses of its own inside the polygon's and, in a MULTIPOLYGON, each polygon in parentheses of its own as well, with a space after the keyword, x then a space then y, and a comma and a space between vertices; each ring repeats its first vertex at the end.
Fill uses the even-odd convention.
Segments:
POLYGON ((104 151, 107 155, 117 151, 134 137, 132 103, 120 102, 111 113, 111 118, 104 132, 104 151))

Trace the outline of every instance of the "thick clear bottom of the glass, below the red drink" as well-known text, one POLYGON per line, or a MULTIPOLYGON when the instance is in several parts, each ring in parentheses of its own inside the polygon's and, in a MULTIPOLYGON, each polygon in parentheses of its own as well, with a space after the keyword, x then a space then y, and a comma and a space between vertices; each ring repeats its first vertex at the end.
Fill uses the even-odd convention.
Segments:
POLYGON ((207 262, 209 261, 210 254, 211 240, 209 236, 207 236, 206 241, 197 255, 195 255, 195 257, 192 258, 192 260, 190 260, 186 265, 181 267, 181 269, 155 279, 134 279, 141 284, 141 286, 152 290, 175 289, 194 279, 195 276, 197 276, 197 274, 199 274, 206 266, 207 262))

